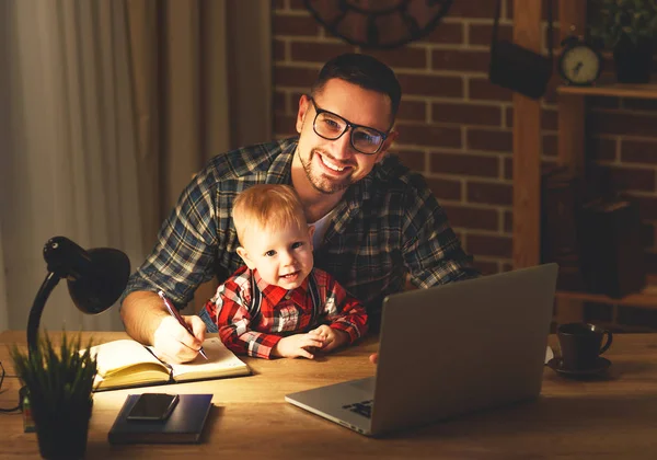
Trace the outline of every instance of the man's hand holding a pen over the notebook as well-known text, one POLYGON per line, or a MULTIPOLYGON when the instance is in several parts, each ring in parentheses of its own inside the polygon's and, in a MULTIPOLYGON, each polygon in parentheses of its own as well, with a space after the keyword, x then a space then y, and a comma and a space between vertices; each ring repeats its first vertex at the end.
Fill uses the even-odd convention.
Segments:
POLYGON ((160 325, 153 334, 153 346, 160 359, 165 363, 188 363, 196 358, 198 349, 205 340, 206 325, 196 315, 185 317, 183 320, 192 327, 191 335, 175 318, 162 318, 160 325))

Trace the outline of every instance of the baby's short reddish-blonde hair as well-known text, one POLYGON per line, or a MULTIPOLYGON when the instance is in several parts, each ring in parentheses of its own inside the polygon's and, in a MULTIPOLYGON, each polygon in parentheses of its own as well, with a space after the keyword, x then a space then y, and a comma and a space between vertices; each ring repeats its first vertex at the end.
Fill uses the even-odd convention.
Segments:
POLYGON ((240 193, 233 203, 232 218, 238 239, 244 244, 246 229, 306 229, 303 206, 292 187, 283 184, 258 184, 240 193))

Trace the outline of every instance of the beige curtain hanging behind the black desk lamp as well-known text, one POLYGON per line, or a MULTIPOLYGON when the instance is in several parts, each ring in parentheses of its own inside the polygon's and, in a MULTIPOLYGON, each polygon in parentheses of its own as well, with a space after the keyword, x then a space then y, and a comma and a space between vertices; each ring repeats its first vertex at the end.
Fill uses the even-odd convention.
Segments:
MULTIPOLYGON (((268 45, 262 47, 269 41, 266 0, 0 2, 7 42, 0 64, 8 69, 0 77, 7 83, 0 84, 2 330, 25 327, 47 272, 48 238, 120 249, 135 269, 208 158, 235 142, 268 139, 270 58, 268 45), (247 21, 240 31, 251 36, 227 47, 227 24, 237 18, 247 21), (260 56, 265 70, 233 65, 230 56, 243 49, 260 56), (253 122, 229 116, 241 103, 228 85, 229 68, 262 96, 260 130, 246 129, 251 139, 240 134, 253 122)), ((42 326, 123 329, 117 308, 79 313, 65 283, 50 296, 42 326)))

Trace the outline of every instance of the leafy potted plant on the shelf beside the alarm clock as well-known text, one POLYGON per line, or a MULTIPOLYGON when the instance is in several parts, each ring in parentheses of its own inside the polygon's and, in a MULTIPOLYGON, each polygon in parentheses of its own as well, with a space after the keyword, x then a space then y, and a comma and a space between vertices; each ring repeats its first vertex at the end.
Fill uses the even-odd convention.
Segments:
POLYGON ((588 8, 591 36, 613 50, 618 81, 650 81, 657 0, 591 0, 588 8))

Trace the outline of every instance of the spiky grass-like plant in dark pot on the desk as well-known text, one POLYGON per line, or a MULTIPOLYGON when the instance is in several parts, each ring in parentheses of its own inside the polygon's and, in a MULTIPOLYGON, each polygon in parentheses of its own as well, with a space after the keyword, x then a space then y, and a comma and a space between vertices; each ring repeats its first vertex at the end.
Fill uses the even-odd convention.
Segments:
POLYGON ((62 333, 56 348, 46 334, 31 354, 16 345, 10 353, 27 388, 42 457, 79 459, 87 450, 96 358, 89 352, 91 342, 81 347, 80 335, 62 333))

